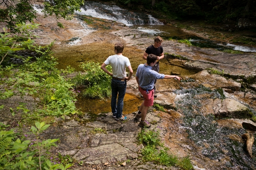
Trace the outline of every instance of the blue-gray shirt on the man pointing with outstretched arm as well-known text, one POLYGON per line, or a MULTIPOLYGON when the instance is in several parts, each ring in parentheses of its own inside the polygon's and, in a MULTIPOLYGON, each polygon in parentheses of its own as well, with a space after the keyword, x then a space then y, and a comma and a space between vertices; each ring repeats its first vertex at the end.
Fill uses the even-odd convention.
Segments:
POLYGON ((159 74, 152 70, 151 66, 140 64, 136 72, 136 77, 139 78, 139 86, 141 88, 151 90, 154 88, 154 80, 164 79, 164 74, 159 74))

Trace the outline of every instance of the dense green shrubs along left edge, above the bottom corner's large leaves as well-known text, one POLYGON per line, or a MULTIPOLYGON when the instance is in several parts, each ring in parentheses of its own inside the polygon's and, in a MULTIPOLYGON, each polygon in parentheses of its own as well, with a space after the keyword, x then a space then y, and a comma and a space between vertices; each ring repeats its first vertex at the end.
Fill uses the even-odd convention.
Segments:
POLYGON ((74 105, 76 94, 71 91, 72 84, 68 84, 67 81, 60 76, 61 71, 67 74, 73 69, 68 68, 68 70, 65 71, 57 70, 55 68, 57 62, 51 52, 53 43, 45 47, 34 45, 34 41, 30 40, 30 38, 26 39, 26 37, 33 36, 30 29, 35 27, 31 24, 28 25, 29 26, 23 23, 17 26, 17 28, 22 30, 20 34, 1 34, 1 61, 6 59, 5 56, 7 56, 7 54, 12 55, 16 49, 34 50, 42 56, 36 58, 35 62, 30 62, 30 58, 24 58, 24 63, 20 66, 9 64, 5 67, 0 67, 0 72, 4 73, 1 75, 3 79, 0 80, 0 83, 4 84, 4 88, 0 89, 0 99, 7 99, 13 95, 31 95, 40 99, 40 109, 30 112, 26 104, 20 104, 16 108, 10 108, 13 116, 19 110, 22 111, 24 115, 28 115, 28 113, 31 114, 30 116, 38 116, 39 114, 60 116, 76 113, 74 105), (29 43, 27 43, 28 40, 29 43), (8 50, 5 51, 5 49, 8 50))

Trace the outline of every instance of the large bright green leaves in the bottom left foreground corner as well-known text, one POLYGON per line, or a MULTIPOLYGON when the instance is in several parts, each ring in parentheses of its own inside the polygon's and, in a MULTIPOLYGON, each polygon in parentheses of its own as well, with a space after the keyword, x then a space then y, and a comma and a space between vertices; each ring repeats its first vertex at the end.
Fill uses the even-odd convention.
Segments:
POLYGON ((21 141, 16 137, 13 130, 0 131, 0 141, 17 138, 9 144, 1 146, 0 149, 0 170, 66 170, 71 164, 52 164, 45 158, 44 152, 50 147, 56 146, 58 139, 39 139, 39 134, 46 130, 50 125, 44 122, 36 122, 35 127, 31 127, 31 133, 36 137, 33 141, 21 141))

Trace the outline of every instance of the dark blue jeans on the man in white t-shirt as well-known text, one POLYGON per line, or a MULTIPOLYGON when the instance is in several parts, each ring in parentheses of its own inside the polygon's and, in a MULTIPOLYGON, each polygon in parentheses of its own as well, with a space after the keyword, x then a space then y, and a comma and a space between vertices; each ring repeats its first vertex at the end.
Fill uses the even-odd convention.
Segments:
POLYGON ((112 79, 111 81, 112 98, 111 98, 111 109, 113 116, 116 118, 122 117, 124 97, 126 91, 126 81, 112 79), (116 98, 118 94, 118 100, 116 105, 116 98))

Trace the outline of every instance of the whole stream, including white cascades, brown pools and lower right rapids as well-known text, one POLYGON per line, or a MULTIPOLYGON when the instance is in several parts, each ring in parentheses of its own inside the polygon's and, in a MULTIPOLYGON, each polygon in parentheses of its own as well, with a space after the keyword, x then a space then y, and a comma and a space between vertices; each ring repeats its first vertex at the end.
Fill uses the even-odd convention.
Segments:
MULTIPOLYGON (((81 7, 81 12, 77 12, 77 14, 114 20, 132 29, 137 29, 151 35, 160 35, 164 39, 188 39, 192 45, 201 48, 211 48, 220 51, 233 49, 243 52, 256 52, 256 49, 252 47, 220 43, 192 36, 176 26, 164 25, 150 14, 128 11, 115 5, 85 1, 84 6, 81 7)), ((68 49, 55 49, 54 56, 59 58, 59 69, 71 66, 76 71, 81 71, 79 68, 81 62, 94 61, 102 63, 109 55, 113 55, 113 49, 110 49, 110 46, 113 46, 111 43, 88 43, 83 46, 78 46, 77 43, 79 43, 78 39, 74 40, 68 49)), ((125 47, 124 54, 130 59, 131 65, 134 66, 134 73, 137 70, 136 66, 145 62, 142 59, 143 52, 143 50, 135 46, 125 47)), ((199 72, 198 70, 181 67, 180 62, 179 60, 170 60, 170 58, 161 60, 160 73, 173 74, 179 72, 179 75, 186 77, 199 72)), ((186 80, 188 79, 184 81, 186 80)), ((191 81, 195 80, 191 79, 191 81)), ((206 114, 205 112, 204 104, 208 100, 216 98, 223 100, 228 94, 223 91, 222 94, 217 90, 214 91, 204 86, 192 86, 191 89, 184 89, 182 86, 180 88, 174 91, 176 93, 174 101, 176 109, 182 115, 182 123, 179 123, 179 128, 181 132, 185 130, 185 133, 183 133, 185 138, 193 141, 193 144, 187 143, 186 148, 189 148, 188 155, 190 154, 192 157, 190 158, 200 162, 201 167, 203 167, 201 170, 256 170, 255 142, 252 148, 253 158, 250 158, 245 150, 244 142, 241 140, 241 135, 247 131, 242 127, 221 126, 220 121, 224 121, 223 125, 228 119, 215 118, 214 115, 206 114)), ((126 94, 124 114, 137 111, 141 102, 141 98, 132 94, 126 94)), ((111 112, 110 98, 93 100, 78 98, 76 106, 83 112, 95 114, 111 112)), ((252 108, 249 109, 253 114, 256 113, 252 108)), ((176 122, 169 121, 168 123, 170 124, 167 127, 168 131, 172 133, 171 124, 176 122)))

